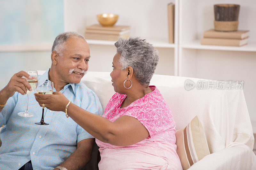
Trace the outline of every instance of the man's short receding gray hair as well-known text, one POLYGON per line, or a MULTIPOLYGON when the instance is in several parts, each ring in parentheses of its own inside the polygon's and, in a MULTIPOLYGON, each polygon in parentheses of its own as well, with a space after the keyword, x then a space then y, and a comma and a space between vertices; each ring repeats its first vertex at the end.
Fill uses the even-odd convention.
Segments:
POLYGON ((62 51, 64 50, 64 46, 66 41, 70 38, 82 38, 85 40, 84 36, 81 35, 80 33, 76 32, 64 32, 60 33, 54 40, 53 45, 52 45, 52 51, 56 51, 57 53, 62 54, 62 51))

